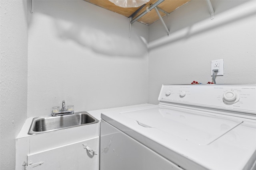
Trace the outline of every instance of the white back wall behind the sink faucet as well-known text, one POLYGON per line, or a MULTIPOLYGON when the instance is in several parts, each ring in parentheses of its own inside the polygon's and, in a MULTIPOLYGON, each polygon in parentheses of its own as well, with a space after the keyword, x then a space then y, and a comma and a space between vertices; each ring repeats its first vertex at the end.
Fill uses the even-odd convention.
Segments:
POLYGON ((148 26, 83 0, 34 1, 28 25, 28 117, 148 102, 148 26))

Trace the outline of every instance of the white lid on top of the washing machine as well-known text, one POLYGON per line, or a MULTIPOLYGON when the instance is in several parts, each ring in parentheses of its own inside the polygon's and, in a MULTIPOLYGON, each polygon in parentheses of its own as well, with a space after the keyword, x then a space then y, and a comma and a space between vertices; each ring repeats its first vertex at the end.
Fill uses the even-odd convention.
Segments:
POLYGON ((196 111, 180 111, 167 107, 129 111, 120 114, 136 120, 139 125, 155 128, 197 145, 209 145, 243 122, 200 114, 196 111))

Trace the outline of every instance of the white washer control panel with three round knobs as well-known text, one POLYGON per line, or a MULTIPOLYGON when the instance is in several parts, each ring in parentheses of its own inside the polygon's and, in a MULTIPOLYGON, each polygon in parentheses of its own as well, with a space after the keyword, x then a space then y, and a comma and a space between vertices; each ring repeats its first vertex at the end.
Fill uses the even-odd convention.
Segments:
POLYGON ((162 85, 158 100, 256 114, 256 85, 162 85))

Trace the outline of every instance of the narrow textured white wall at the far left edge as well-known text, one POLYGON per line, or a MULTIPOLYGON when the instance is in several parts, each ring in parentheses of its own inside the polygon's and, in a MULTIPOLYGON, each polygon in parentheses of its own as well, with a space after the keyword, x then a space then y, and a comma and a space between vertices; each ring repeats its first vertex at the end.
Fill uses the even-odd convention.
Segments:
POLYGON ((15 138, 27 115, 27 1, 0 0, 0 169, 15 169, 15 138))

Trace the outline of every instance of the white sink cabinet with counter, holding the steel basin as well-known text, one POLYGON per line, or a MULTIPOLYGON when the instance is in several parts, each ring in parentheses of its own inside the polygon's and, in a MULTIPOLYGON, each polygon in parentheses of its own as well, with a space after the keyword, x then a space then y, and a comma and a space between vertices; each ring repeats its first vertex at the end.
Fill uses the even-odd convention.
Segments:
POLYGON ((99 170, 100 123, 28 135, 31 121, 16 138, 16 170, 99 170))

